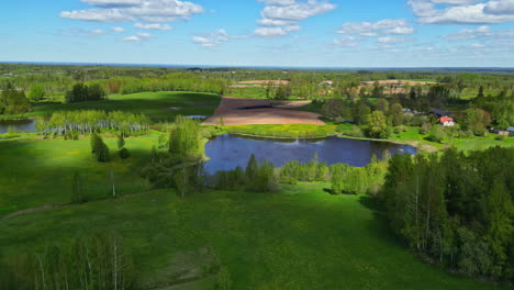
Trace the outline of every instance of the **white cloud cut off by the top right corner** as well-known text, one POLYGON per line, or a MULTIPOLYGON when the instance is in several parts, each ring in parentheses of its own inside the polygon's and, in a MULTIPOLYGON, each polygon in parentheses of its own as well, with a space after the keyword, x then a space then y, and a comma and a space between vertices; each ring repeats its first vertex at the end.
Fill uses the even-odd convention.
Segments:
POLYGON ((427 24, 488 24, 514 21, 514 0, 409 0, 417 20, 427 24))

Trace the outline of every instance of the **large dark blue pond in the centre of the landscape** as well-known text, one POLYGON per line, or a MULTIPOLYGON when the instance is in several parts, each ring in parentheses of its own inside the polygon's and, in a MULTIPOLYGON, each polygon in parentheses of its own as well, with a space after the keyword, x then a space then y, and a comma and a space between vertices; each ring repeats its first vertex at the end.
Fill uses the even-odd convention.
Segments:
POLYGON ((208 172, 232 170, 246 167, 252 154, 257 160, 271 161, 281 167, 287 161, 308 163, 317 153, 320 161, 328 165, 345 163, 362 167, 369 164, 372 155, 381 158, 389 150, 393 154, 415 154, 416 148, 390 142, 360 141, 339 137, 323 140, 269 140, 239 135, 221 135, 205 145, 205 154, 211 159, 205 163, 208 172))

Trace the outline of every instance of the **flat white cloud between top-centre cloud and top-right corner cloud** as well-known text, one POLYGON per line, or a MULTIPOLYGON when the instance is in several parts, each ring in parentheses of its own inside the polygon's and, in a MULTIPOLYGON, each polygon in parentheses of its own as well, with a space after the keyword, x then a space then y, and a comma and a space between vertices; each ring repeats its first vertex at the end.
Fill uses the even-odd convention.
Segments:
POLYGON ((372 37, 380 34, 412 34, 414 29, 404 19, 384 19, 378 22, 347 22, 337 33, 372 37))

